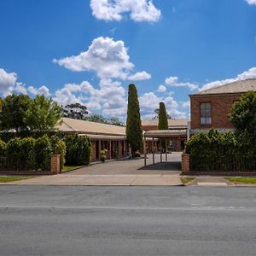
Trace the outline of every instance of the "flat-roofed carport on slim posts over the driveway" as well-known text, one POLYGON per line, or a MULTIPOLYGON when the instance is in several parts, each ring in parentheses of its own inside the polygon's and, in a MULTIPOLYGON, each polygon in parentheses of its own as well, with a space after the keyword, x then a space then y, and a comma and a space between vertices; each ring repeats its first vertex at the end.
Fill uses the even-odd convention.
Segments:
MULTIPOLYGON (((143 134, 143 139, 144 139, 144 143, 143 143, 143 151, 144 151, 144 167, 147 166, 147 148, 146 148, 146 143, 147 143, 147 139, 151 138, 153 141, 153 145, 155 140, 159 140, 160 141, 160 163, 163 162, 163 153, 162 153, 162 141, 165 141, 165 159, 166 161, 168 161, 168 152, 167 152, 167 141, 172 139, 173 137, 182 137, 184 135, 184 133, 186 134, 186 131, 183 130, 154 130, 154 131, 145 131, 145 133, 143 134)), ((152 161, 153 161, 153 165, 155 164, 155 152, 154 150, 152 150, 152 161)))

